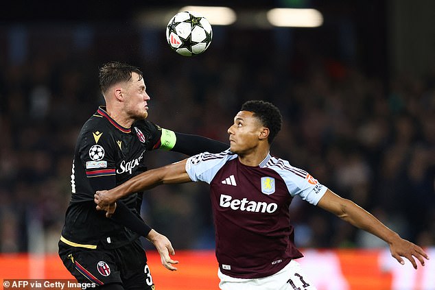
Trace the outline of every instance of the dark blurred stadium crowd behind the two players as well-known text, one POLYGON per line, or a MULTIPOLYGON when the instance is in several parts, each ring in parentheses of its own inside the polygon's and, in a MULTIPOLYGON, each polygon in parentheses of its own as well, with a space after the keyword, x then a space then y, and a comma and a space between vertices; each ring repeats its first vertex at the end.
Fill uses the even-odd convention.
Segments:
MULTIPOLYGON (((104 104, 97 72, 109 60, 143 70, 150 121, 178 132, 227 141, 244 101, 272 101, 284 119, 273 155, 309 171, 403 237, 435 245, 434 68, 425 77, 382 77, 304 40, 289 44, 291 53, 268 45, 277 40, 268 31, 216 27, 204 55, 183 58, 160 30, 128 25, 0 30, 0 252, 57 251, 75 138, 104 104)), ((145 162, 152 168, 181 158, 152 152, 145 162)), ((291 208, 300 247, 384 246, 301 200, 291 208)), ((213 248, 206 184, 145 193, 143 217, 177 250, 213 248)))

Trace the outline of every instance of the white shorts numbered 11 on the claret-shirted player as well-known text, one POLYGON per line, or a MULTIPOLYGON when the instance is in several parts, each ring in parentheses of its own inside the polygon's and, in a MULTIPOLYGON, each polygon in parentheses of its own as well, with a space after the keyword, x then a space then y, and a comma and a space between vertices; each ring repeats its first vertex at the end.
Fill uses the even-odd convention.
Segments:
POLYGON ((268 277, 244 279, 233 278, 217 271, 222 290, 316 290, 303 273, 301 265, 292 260, 281 271, 268 277))

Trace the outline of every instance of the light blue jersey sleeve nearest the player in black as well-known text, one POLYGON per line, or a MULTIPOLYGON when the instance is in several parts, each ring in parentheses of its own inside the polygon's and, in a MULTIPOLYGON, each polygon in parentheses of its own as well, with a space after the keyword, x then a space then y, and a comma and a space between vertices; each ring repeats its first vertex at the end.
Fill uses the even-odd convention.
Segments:
POLYGON ((220 154, 200 153, 187 158, 186 172, 192 181, 203 181, 210 184, 217 171, 224 166, 227 160, 228 155, 225 152, 220 154))

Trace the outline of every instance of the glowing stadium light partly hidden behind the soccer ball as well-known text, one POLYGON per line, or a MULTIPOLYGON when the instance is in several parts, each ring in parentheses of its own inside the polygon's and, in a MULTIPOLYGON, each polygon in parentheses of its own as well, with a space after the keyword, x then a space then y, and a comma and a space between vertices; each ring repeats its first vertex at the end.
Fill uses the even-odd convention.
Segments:
POLYGON ((182 11, 198 12, 207 20, 211 25, 231 25, 235 23, 237 16, 233 9, 228 7, 219 6, 185 6, 180 9, 182 11))

